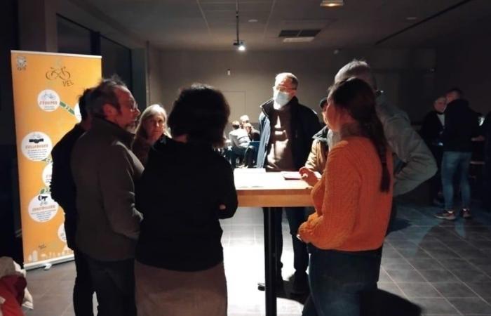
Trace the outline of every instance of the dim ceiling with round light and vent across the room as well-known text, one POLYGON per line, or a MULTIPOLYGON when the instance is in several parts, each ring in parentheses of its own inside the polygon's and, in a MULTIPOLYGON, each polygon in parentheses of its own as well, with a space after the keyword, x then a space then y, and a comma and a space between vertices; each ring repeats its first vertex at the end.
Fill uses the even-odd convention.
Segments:
MULTIPOLYGON (((164 50, 234 49, 235 0, 83 2, 102 13, 112 26, 130 30, 164 50)), ((255 51, 433 48, 491 34, 491 0, 344 0, 341 8, 323 8, 320 3, 321 0, 238 0, 240 39, 255 51), (410 17, 415 19, 408 20, 410 17), (283 29, 321 32, 309 43, 283 43, 278 38, 283 29)))

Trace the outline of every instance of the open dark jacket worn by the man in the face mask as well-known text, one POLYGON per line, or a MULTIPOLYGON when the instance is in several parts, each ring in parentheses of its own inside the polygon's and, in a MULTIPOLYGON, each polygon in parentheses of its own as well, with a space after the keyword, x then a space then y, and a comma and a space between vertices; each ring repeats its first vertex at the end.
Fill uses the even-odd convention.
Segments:
MULTIPOLYGON (((273 105, 273 99, 261 105, 262 112, 259 117, 261 139, 257 152, 257 168, 264 168, 266 165, 269 138, 271 136, 271 121, 269 121, 269 117, 275 111, 273 105)), ((307 157, 309 157, 312 136, 321 129, 321 125, 319 124, 316 112, 298 103, 297 97, 293 97, 288 105, 291 111, 290 126, 293 135, 293 139, 290 140, 292 144, 292 157, 295 169, 300 169, 307 161, 307 157)))

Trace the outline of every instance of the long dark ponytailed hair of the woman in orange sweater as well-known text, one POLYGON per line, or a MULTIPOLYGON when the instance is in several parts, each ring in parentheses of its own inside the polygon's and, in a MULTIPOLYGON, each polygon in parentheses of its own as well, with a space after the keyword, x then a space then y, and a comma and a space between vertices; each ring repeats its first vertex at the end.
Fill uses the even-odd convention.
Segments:
POLYGON ((387 169, 387 141, 382 122, 375 112, 375 94, 362 79, 349 78, 330 88, 329 99, 335 107, 346 110, 358 122, 361 135, 369 138, 377 150, 382 164, 380 190, 389 192, 391 177, 387 169))

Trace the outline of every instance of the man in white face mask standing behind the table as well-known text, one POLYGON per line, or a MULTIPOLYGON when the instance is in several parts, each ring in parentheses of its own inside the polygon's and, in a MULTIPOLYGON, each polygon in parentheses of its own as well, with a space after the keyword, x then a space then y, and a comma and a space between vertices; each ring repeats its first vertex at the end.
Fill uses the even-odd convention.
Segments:
MULTIPOLYGON (((261 105, 260 145, 257 154, 257 168, 266 171, 297 171, 309 157, 312 136, 321 129, 316 112, 301 105, 296 97, 298 79, 294 74, 283 72, 276 75, 273 98, 261 105)), ((295 275, 293 294, 304 294, 309 289, 307 266, 309 255, 304 242, 297 239, 297 230, 305 220, 303 207, 284 208, 293 242, 295 275)), ((273 208, 276 228, 276 284, 282 285, 281 233, 282 208, 273 208)))

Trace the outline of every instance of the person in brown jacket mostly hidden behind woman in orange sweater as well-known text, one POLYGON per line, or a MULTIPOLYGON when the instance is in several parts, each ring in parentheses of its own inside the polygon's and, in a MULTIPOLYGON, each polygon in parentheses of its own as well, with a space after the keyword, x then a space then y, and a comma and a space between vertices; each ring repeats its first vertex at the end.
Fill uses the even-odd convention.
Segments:
MULTIPOLYGON (((328 124, 327 118, 325 117, 325 109, 328 105, 328 98, 322 98, 319 102, 319 106, 322 110, 322 118, 325 124, 328 124)), ((314 135, 314 141, 312 142, 312 148, 310 150, 309 158, 305 162, 305 168, 311 171, 317 171, 318 173, 323 173, 325 169, 325 160, 328 158, 328 126, 324 126, 321 131, 318 131, 314 135)))

